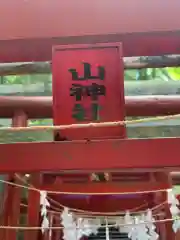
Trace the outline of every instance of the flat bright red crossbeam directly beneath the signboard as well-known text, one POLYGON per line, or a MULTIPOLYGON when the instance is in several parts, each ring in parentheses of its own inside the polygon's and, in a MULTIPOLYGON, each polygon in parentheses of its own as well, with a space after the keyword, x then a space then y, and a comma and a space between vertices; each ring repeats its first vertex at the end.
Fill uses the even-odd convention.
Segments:
POLYGON ((0 172, 178 170, 179 146, 180 138, 0 144, 0 172))

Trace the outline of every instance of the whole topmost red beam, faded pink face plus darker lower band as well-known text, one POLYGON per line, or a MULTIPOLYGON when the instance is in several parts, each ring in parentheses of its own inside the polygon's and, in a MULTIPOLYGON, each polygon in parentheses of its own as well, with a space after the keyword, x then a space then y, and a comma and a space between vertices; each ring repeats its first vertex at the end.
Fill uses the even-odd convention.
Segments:
POLYGON ((46 61, 53 45, 94 42, 122 42, 125 56, 178 54, 179 7, 178 0, 2 1, 0 62, 46 61))

